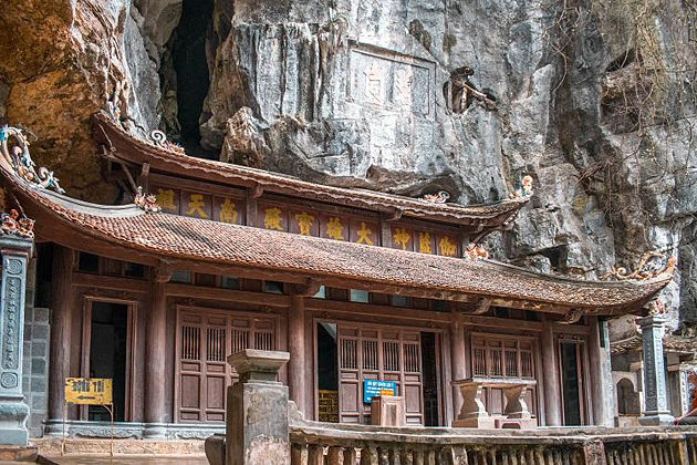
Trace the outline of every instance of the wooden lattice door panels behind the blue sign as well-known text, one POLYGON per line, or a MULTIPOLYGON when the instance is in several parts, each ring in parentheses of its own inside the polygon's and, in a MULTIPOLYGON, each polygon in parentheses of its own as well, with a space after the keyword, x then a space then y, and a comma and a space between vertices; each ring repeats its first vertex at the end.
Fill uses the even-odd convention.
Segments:
POLYGON ((337 326, 339 411, 342 423, 367 423, 363 381, 397 383, 407 424, 424 423, 420 332, 407 329, 337 326))

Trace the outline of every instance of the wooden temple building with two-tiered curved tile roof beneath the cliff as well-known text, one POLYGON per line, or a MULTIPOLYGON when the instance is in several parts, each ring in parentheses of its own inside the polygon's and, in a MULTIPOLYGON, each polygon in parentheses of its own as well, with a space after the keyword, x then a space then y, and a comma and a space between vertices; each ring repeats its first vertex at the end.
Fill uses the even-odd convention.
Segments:
MULTIPOLYGON (((642 314, 649 334, 674 262, 590 281, 489 259, 481 239, 511 227, 532 178, 462 206, 196 158, 105 114, 93 123, 104 173, 132 204, 71 198, 21 133, 2 137, 9 207, 35 221, 33 304, 50 308, 46 434, 62 432, 67 376, 113 380, 119 437, 222 431, 226 360, 247 348, 290 353, 280 378, 309 420, 370 423, 366 381, 378 380, 396 382, 407 424, 477 426, 458 416, 454 382, 470 380, 476 420, 501 416, 516 384, 535 425, 613 424, 606 320, 642 314)), ((656 418, 662 373, 645 411, 656 418)), ((65 426, 110 434, 95 406, 69 406, 65 426)))

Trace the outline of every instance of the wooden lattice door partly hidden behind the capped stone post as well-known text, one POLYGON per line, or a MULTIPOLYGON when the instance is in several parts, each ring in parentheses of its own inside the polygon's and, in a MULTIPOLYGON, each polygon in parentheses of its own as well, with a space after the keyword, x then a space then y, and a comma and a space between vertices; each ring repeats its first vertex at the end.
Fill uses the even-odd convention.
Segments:
POLYGON ((275 319, 196 309, 178 311, 175 413, 177 422, 223 422, 226 391, 237 381, 227 363, 243 349, 275 349, 275 319))

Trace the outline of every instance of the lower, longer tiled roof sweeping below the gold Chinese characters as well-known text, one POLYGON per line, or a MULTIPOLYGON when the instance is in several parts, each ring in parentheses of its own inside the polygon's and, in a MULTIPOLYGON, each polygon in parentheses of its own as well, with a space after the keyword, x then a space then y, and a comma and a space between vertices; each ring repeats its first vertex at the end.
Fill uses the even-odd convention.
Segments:
MULTIPOLYGON (((292 272, 308 278, 351 279, 405 289, 583 308, 637 311, 670 277, 636 282, 597 282, 541 275, 491 260, 467 260, 306 237, 247 226, 144 213, 135 206, 104 207, 41 190, 3 170, 9 187, 50 225, 86 234, 104 245, 215 264, 218 267, 292 272), (40 208, 41 211, 37 211, 40 208), (46 221, 49 223, 49 221, 46 221)), ((614 310, 613 310, 614 312, 614 310)))

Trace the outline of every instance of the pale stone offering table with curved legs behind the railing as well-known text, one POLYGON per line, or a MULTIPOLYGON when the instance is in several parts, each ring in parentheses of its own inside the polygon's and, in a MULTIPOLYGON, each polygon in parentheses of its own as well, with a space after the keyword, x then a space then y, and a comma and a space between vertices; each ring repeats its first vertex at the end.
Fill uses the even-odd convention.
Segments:
POLYGON ((534 380, 521 378, 474 376, 452 382, 462 394, 462 407, 452 422, 452 427, 514 427, 528 430, 537 427, 526 404, 526 392, 537 384, 534 380), (481 401, 485 388, 501 389, 506 396, 503 415, 490 416, 481 401))

